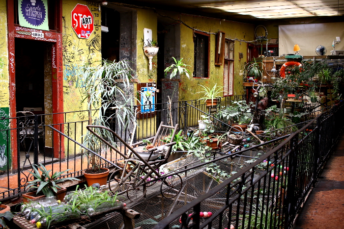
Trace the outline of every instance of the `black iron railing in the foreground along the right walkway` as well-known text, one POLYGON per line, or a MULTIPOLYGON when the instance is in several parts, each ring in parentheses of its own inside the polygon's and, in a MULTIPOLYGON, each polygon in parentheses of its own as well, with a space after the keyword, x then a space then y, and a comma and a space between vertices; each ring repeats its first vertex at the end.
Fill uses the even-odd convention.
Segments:
POLYGON ((342 133, 343 111, 344 105, 340 103, 318 115, 254 163, 175 210, 154 229, 168 229, 172 225, 182 229, 223 229, 231 225, 236 229, 292 228, 297 212, 342 133), (215 201, 221 193, 225 199, 215 201), (212 215, 202 218, 203 211, 212 215))

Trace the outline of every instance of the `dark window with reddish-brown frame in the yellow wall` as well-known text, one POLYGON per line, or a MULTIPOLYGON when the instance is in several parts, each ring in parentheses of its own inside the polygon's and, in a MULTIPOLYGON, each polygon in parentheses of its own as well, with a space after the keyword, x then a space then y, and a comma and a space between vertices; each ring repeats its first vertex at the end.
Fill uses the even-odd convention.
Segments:
POLYGON ((194 77, 207 78, 209 77, 209 43, 210 35, 195 31, 194 33, 195 45, 195 66, 194 77))

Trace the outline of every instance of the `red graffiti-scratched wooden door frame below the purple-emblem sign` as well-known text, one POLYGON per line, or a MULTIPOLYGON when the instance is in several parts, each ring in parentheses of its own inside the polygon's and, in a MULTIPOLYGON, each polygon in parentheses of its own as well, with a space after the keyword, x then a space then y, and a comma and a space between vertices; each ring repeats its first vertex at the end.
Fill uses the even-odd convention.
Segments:
MULTIPOLYGON (((16 117, 16 78, 15 78, 15 38, 40 40, 52 44, 52 105, 53 105, 53 124, 63 123, 63 65, 62 65, 62 1, 59 0, 56 12, 55 25, 57 30, 38 30, 26 28, 14 24, 14 1, 7 0, 7 28, 8 28, 8 73, 9 73, 9 113, 10 117, 16 117), (41 32, 44 38, 35 38, 31 36, 31 32, 41 32)), ((17 124, 11 122, 11 151, 12 151, 12 168, 14 171, 20 168, 18 164, 17 145, 17 124)), ((56 127, 63 132, 63 125, 56 127)), ((54 134, 54 157, 64 159, 64 144, 60 134, 54 134)))

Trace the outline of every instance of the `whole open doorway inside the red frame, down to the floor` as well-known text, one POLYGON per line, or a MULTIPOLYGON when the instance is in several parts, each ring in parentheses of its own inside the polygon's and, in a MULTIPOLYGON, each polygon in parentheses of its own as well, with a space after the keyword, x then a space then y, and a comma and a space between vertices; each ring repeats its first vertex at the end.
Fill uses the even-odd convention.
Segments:
POLYGON ((32 154, 37 163, 52 152, 52 141, 46 141, 44 126, 44 122, 50 120, 44 114, 52 113, 51 49, 52 44, 48 42, 15 38, 15 108, 21 166, 26 166, 25 154, 32 154), (34 154, 33 115, 38 115, 38 154, 34 154))

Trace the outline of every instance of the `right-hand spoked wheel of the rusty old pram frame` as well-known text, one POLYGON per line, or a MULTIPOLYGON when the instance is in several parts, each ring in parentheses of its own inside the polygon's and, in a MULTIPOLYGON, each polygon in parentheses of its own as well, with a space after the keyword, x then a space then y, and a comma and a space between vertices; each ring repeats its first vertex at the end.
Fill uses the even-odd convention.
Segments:
POLYGON ((167 199, 172 199, 179 194, 183 187, 183 180, 179 174, 164 178, 160 185, 160 193, 167 199))

